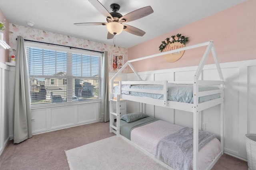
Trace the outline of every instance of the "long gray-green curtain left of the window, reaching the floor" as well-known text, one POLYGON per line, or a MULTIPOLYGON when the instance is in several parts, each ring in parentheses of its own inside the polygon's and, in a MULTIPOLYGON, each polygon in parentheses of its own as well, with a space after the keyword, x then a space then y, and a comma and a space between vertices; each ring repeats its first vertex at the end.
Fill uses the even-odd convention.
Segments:
POLYGON ((17 37, 14 91, 14 143, 32 137, 28 61, 24 39, 17 37))

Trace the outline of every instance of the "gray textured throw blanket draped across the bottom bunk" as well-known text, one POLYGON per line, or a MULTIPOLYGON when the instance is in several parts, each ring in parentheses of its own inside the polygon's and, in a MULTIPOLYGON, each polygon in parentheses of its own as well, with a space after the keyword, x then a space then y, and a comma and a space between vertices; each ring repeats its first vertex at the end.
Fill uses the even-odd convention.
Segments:
MULTIPOLYGON (((199 150, 215 137, 212 133, 199 131, 199 150)), ((156 158, 175 170, 189 170, 193 159, 193 129, 184 127, 160 140, 156 148, 156 158)))

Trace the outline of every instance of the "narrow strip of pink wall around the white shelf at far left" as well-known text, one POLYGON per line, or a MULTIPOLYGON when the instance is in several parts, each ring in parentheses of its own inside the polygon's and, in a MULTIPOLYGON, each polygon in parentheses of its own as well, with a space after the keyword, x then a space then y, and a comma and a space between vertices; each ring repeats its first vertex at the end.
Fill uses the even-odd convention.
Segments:
MULTIPOLYGON (((0 21, 6 19, 2 10, 0 9, 0 21)), ((7 44, 9 44, 9 22, 7 20, 4 20, 4 26, 6 27, 2 33, 4 33, 4 41, 6 41, 7 44)), ((0 48, 0 63, 9 62, 8 57, 9 50, 0 48)))

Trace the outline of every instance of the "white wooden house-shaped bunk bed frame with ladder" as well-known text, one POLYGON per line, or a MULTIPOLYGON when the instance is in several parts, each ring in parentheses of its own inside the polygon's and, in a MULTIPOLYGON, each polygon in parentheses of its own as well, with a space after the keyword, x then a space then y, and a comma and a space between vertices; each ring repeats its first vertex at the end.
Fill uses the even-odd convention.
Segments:
MULTIPOLYGON (((156 55, 150 55, 147 57, 142 57, 139 59, 134 59, 127 61, 124 66, 112 77, 111 79, 111 92, 110 92, 110 132, 116 133, 117 137, 120 137, 120 116, 117 113, 120 113, 120 99, 124 100, 131 100, 134 102, 140 102, 144 104, 152 104, 155 106, 162 106, 162 107, 168 107, 172 109, 179 109, 183 111, 188 111, 193 113, 193 169, 198 170, 198 128, 200 127, 198 124, 199 121, 199 112, 210 108, 212 106, 216 106, 220 104, 220 145, 221 145, 221 152, 216 156, 216 158, 212 161, 210 166, 208 168, 212 168, 214 164, 217 162, 217 160, 220 158, 220 156, 223 154, 223 108, 224 108, 224 79, 222 75, 222 71, 220 68, 220 64, 218 62, 216 50, 214 47, 213 41, 208 41, 205 43, 200 43, 196 45, 191 45, 188 47, 183 47, 180 49, 175 49, 172 51, 167 51, 164 53, 159 53, 156 55), (202 46, 207 46, 206 50, 202 56, 202 59, 200 61, 200 64, 198 65, 198 68, 194 74, 193 81, 189 82, 168 82, 168 81, 143 81, 142 78, 140 78, 139 74, 136 72, 134 67, 132 66, 132 62, 140 61, 144 59, 149 59, 152 57, 157 57, 160 55, 166 55, 169 53, 175 53, 178 51, 183 50, 189 50, 194 49, 202 46), (214 58, 216 68, 218 70, 218 75, 220 80, 199 80, 200 74, 202 73, 204 64, 206 63, 206 60, 208 59, 208 56, 212 52, 212 56, 214 58), (133 72, 136 74, 136 76, 141 81, 120 81, 115 82, 114 80, 117 78, 118 74, 122 72, 122 70, 126 67, 130 66, 130 68, 133 70, 133 72), (120 90, 119 93, 114 92, 114 84, 119 84, 120 90), (182 103, 182 102, 174 102, 168 100, 168 83, 176 83, 176 84, 192 84, 193 85, 193 103, 182 103), (132 88, 124 88, 122 85, 124 84, 158 84, 163 86, 163 90, 149 90, 149 89, 132 89, 132 88), (218 85, 219 89, 217 90, 207 90, 207 91, 199 91, 199 86, 201 85, 218 85), (139 96, 132 96, 127 94, 122 94, 122 91, 130 91, 130 92, 144 92, 144 93, 151 93, 151 94, 162 94, 163 100, 154 99, 154 98, 145 98, 145 97, 139 97, 139 96), (207 102, 198 102, 199 98, 202 96, 208 96, 208 95, 214 95, 214 94, 220 94, 220 98, 216 98, 213 100, 209 100, 207 102), (114 113, 113 108, 113 102, 116 102, 116 113, 114 113), (114 122, 116 119, 116 123, 114 122)), ((166 166, 169 167, 169 166, 166 166)))

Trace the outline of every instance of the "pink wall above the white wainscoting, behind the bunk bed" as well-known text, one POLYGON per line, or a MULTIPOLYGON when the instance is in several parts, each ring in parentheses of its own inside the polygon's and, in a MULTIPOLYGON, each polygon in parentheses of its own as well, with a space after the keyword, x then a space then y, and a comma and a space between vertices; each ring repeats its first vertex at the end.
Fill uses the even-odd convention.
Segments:
MULTIPOLYGON (((213 40, 220 63, 256 59, 256 1, 242 4, 196 21, 128 49, 128 60, 160 53, 158 47, 167 37, 180 33, 189 37, 186 46, 213 40)), ((196 66, 206 47, 185 51, 182 58, 169 63, 162 56, 132 63, 137 71, 196 66)), ((209 57, 206 64, 214 63, 209 57)), ((128 72, 132 72, 128 68, 128 72)))

